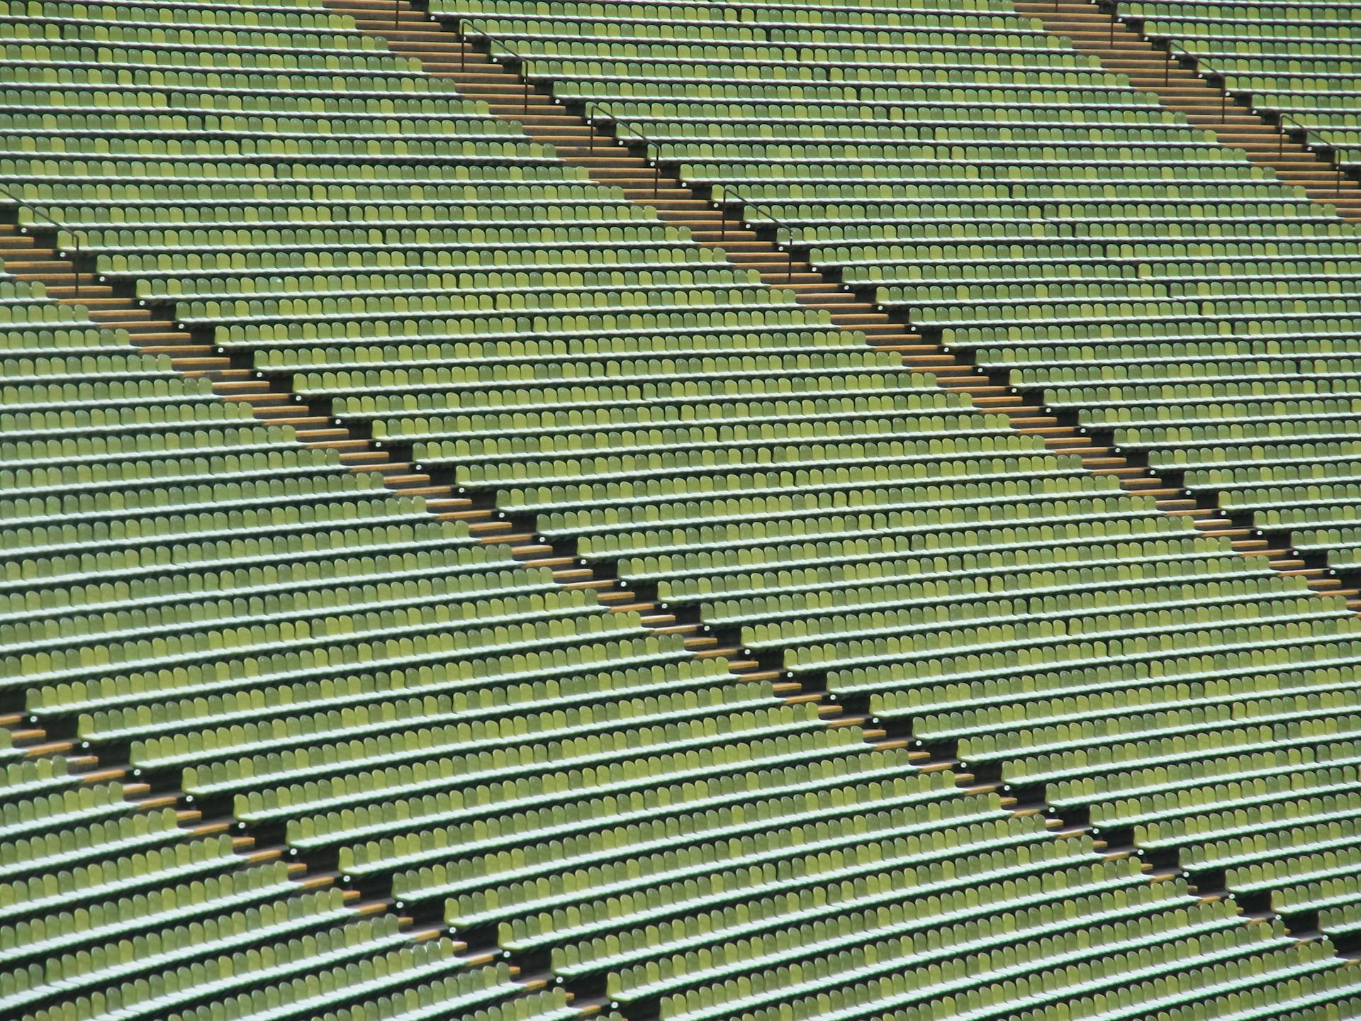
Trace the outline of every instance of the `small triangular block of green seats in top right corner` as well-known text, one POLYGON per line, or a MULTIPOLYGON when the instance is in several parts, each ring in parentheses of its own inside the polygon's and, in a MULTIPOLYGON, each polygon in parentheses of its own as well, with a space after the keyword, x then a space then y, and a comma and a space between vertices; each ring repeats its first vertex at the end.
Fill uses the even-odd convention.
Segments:
POLYGON ((1177 53, 1195 57, 1252 108, 1304 129, 1353 172, 1361 165, 1361 79, 1353 35, 1361 14, 1347 3, 1270 0, 1127 0, 1121 18, 1177 53))

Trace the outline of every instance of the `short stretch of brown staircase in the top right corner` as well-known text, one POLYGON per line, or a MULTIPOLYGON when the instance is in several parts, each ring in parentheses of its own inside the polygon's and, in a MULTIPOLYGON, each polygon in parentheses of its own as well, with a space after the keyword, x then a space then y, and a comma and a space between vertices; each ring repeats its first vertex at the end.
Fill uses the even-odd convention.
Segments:
POLYGON ((1169 110, 1213 131, 1224 144, 1241 148, 1253 163, 1304 188, 1315 201, 1335 206, 1343 219, 1361 223, 1361 185, 1327 157, 1305 148, 1294 132, 1282 131, 1244 98, 1214 84, 1213 75, 1199 72, 1191 57, 1172 56, 1094 0, 1018 0, 1015 10, 1067 35, 1108 71, 1126 75, 1135 88, 1155 94, 1169 110))

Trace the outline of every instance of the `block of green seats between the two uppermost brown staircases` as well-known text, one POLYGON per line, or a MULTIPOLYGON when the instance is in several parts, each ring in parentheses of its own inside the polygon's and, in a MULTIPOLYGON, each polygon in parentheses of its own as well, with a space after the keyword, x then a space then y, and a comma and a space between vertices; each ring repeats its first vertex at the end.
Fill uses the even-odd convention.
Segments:
POLYGON ((1041 23, 909 5, 889 41, 878 7, 431 10, 919 331, 1353 564, 1353 229, 1041 23))

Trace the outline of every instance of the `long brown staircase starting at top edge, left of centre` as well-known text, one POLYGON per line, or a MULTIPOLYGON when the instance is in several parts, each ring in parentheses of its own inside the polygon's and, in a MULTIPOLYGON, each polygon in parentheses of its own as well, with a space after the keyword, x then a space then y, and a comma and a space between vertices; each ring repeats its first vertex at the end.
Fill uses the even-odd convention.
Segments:
MULTIPOLYGON (((980 369, 915 332, 897 313, 876 308, 871 293, 851 290, 833 274, 777 246, 768 230, 743 219, 740 206, 716 206, 675 170, 659 166, 645 143, 617 136, 610 124, 588 121, 580 110, 557 101, 551 88, 520 78, 502 63, 510 60, 504 48, 495 46, 493 59, 486 38, 463 38, 455 23, 434 19, 411 0, 325 3, 354 18, 363 31, 385 39, 393 53, 419 60, 429 75, 482 99, 493 114, 524 125, 532 139, 553 146, 566 163, 584 167, 602 184, 622 188, 625 196, 651 206, 663 221, 689 229, 701 245, 721 249, 734 265, 755 270, 770 287, 793 291, 800 305, 825 310, 837 325, 860 331, 878 350, 901 355, 909 369, 934 374, 943 388, 966 395, 981 411, 1006 415, 1017 432, 1043 437, 1052 453, 1081 457, 1087 471, 1115 475, 1127 491, 1154 497, 1164 513, 1191 517, 1198 530, 1229 539, 1240 554, 1266 557, 1282 574, 1305 577, 1315 592, 1345 595, 1354 610, 1361 610, 1361 591, 1343 589, 1322 558, 1297 555, 1289 534, 1264 534, 1247 516, 1221 510, 1217 493, 1188 493, 1132 461, 1111 437, 1089 436, 1075 415, 1047 411, 1038 393, 1013 387, 1004 372, 980 369)), ((1078 0, 1068 5, 1090 7, 1078 0)))

